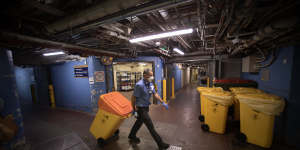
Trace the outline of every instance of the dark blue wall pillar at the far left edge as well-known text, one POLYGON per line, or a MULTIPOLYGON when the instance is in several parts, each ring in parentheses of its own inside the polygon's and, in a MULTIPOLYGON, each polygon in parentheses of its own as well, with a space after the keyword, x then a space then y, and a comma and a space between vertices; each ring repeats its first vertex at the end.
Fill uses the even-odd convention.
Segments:
POLYGON ((7 149, 13 149, 15 145, 24 144, 23 116, 21 113, 16 78, 13 66, 12 54, 10 51, 0 49, 0 97, 4 100, 2 116, 12 115, 19 126, 17 136, 10 143, 6 144, 7 149))

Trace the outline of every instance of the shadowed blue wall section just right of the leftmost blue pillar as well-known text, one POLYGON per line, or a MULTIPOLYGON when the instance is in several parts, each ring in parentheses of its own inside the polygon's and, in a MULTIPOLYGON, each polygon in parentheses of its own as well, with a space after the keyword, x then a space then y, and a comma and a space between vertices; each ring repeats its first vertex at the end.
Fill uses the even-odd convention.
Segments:
POLYGON ((33 68, 15 67, 17 89, 21 104, 32 104, 31 84, 34 84, 33 68))

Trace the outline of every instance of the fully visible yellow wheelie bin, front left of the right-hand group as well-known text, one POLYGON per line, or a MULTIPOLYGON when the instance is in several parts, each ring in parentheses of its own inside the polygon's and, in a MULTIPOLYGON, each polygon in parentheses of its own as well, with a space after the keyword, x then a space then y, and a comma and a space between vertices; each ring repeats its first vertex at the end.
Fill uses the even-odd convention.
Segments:
POLYGON ((226 129, 228 107, 232 105, 230 92, 205 92, 205 121, 201 125, 204 131, 224 134, 226 129))

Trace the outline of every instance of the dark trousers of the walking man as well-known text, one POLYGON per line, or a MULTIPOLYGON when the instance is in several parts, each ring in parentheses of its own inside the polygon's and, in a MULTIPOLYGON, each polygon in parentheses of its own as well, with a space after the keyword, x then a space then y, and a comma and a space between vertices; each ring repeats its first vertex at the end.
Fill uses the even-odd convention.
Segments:
POLYGON ((138 130, 142 127, 142 125, 144 123, 146 125, 146 127, 148 128, 149 132, 151 133, 151 136, 153 137, 153 139, 159 146, 162 144, 162 140, 161 140, 160 136, 157 134, 157 132, 155 131, 154 125, 152 123, 152 120, 151 120, 148 112, 149 112, 149 107, 138 107, 137 108, 138 117, 130 131, 129 136, 136 137, 136 133, 138 132, 138 130))

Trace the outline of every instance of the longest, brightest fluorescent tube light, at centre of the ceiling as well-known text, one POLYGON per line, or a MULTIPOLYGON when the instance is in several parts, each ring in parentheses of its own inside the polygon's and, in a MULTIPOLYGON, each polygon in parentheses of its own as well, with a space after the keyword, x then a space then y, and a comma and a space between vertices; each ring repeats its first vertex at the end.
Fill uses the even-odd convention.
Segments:
POLYGON ((165 32, 165 33, 160 33, 160 34, 155 34, 155 35, 144 36, 144 37, 140 37, 140 38, 131 39, 129 41, 130 41, 130 43, 136 43, 136 42, 149 41, 149 40, 153 40, 153 39, 166 38, 166 37, 171 37, 171 36, 176 36, 176 35, 189 34, 192 32, 193 32, 193 29, 190 28, 190 29, 177 30, 177 31, 165 32))

